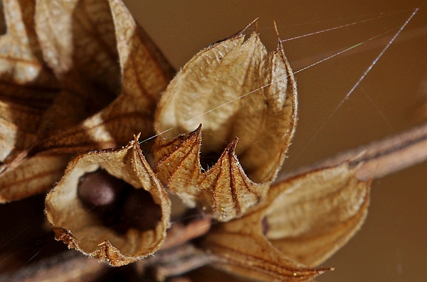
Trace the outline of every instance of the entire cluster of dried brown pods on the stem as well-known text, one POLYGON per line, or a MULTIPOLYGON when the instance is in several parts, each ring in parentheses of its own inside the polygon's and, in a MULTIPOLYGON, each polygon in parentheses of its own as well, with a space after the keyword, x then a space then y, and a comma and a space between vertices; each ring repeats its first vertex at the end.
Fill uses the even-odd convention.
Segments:
POLYGON ((297 112, 280 40, 267 53, 257 33, 240 31, 172 80, 121 0, 5 0, 4 10, 0 199, 58 182, 46 216, 70 248, 112 266, 153 266, 182 244, 187 269, 309 281, 364 222, 360 162, 274 182, 297 112), (171 205, 176 196, 200 216, 180 224, 189 214, 171 205))

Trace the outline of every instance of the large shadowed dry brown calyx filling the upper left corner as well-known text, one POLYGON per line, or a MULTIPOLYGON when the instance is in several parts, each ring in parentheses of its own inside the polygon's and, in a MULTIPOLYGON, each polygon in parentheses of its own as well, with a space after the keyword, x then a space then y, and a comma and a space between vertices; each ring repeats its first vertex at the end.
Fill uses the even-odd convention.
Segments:
MULTIPOLYGON (((22 197, 48 189, 46 183, 33 187, 31 180, 32 189, 13 191, 25 183, 14 185, 19 179, 11 176, 26 175, 29 181, 28 171, 35 170, 23 168, 39 153, 64 163, 65 154, 123 146, 139 131, 143 138, 154 134, 154 109, 173 70, 122 1, 8 0, 5 8, 9 31, 0 39, 0 60, 6 62, 0 69, 0 178, 16 171, 0 181, 0 189, 22 197), (59 94, 43 58, 63 87, 59 94)), ((51 186, 61 169, 65 164, 51 173, 56 175, 51 186)), ((0 201, 8 199, 19 197, 0 201)))

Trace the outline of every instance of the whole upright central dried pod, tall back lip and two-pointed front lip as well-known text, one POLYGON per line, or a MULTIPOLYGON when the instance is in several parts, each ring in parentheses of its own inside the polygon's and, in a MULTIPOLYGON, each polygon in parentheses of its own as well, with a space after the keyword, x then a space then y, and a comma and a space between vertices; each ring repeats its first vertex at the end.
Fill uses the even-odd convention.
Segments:
POLYGON ((153 150, 157 173, 189 206, 197 202, 224 221, 241 216, 262 200, 282 165, 296 109, 282 45, 267 53, 256 33, 244 41, 241 31, 194 56, 167 87, 154 124, 162 134, 153 150), (167 140, 198 124, 202 146, 200 132, 197 140, 195 134, 167 140), (176 156, 186 163, 173 161, 176 156), (218 163, 200 173, 199 160, 211 156, 218 163))

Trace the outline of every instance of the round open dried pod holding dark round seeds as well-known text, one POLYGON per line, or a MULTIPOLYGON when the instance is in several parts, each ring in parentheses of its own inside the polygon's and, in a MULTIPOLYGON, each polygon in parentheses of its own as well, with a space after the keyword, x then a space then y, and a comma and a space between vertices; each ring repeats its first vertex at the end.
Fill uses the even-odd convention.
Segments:
MULTIPOLYGON (((119 186, 122 184, 119 183, 119 186)), ((135 138, 124 148, 92 151, 75 158, 63 179, 46 197, 46 215, 56 232, 56 239, 83 254, 108 261, 112 266, 121 266, 159 249, 169 227, 170 202, 167 192, 142 156, 135 138), (99 199, 92 199, 92 195, 88 196, 90 193, 86 192, 80 192, 79 196, 79 182, 85 182, 80 178, 100 169, 114 178, 100 175, 98 179, 88 182, 104 185, 101 192, 114 192, 113 200, 108 205, 115 205, 112 212, 117 212, 122 222, 114 219, 106 224, 105 218, 100 218, 97 212, 88 211, 87 204, 82 201, 83 197, 93 205, 99 199), (131 185, 131 190, 125 192, 125 188, 114 188, 115 191, 112 191, 109 186, 117 185, 115 178, 131 185), (142 210, 141 205, 144 205, 142 210), (135 210, 139 210, 139 213, 135 210), (135 223, 132 219, 138 221, 135 223), (127 228, 117 227, 123 222, 127 222, 127 228)))

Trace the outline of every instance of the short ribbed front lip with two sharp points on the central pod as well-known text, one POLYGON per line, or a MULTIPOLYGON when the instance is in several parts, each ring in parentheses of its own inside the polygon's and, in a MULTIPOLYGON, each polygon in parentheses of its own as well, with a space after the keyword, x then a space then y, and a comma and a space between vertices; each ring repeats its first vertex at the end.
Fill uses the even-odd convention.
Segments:
POLYGON ((236 144, 237 139, 227 146, 212 168, 201 172, 201 126, 175 139, 157 139, 154 151, 161 159, 154 170, 186 205, 198 206, 211 217, 227 222, 258 204, 268 191, 268 184, 253 183, 246 176, 238 163, 236 144))

